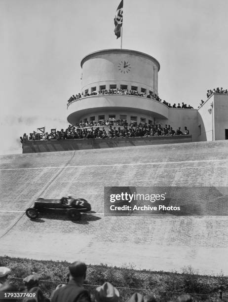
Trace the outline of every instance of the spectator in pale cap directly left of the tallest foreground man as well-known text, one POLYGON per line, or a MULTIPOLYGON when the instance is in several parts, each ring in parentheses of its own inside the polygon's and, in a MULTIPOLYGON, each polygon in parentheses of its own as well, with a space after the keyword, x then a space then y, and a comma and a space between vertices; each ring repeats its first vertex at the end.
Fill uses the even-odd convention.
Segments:
POLYGON ((39 288, 39 280, 40 276, 38 274, 32 274, 23 279, 25 292, 36 293, 36 298, 24 298, 23 302, 50 302, 39 288))

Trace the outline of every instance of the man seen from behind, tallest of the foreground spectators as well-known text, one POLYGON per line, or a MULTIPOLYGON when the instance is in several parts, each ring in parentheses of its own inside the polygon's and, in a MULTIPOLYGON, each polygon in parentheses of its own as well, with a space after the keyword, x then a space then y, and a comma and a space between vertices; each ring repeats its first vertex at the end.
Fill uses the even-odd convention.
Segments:
POLYGON ((57 289, 51 302, 91 302, 89 292, 84 289, 86 264, 76 261, 69 265, 69 282, 57 289))

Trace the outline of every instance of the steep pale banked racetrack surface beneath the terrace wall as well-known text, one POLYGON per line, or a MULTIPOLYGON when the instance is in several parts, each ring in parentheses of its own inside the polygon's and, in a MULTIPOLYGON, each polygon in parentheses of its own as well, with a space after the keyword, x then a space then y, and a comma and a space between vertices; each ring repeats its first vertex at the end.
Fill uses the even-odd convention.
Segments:
POLYGON ((0 156, 0 255, 228 274, 228 217, 104 217, 104 186, 228 186, 228 142, 0 156), (96 212, 73 223, 23 214, 71 192, 96 212))

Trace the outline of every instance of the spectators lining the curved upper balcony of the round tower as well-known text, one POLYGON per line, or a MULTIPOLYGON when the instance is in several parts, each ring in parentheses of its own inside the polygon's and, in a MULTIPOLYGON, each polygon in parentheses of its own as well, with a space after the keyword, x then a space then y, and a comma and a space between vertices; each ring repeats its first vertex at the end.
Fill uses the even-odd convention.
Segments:
POLYGON ((187 104, 185 104, 184 102, 182 103, 182 105, 180 105, 180 103, 178 103, 178 105, 176 105, 176 104, 171 105, 170 103, 166 102, 165 100, 162 101, 162 99, 160 99, 159 96, 156 95, 153 92, 150 92, 149 94, 146 94, 145 92, 138 92, 136 90, 119 89, 119 88, 109 89, 109 90, 107 90, 107 89, 106 90, 99 90, 98 92, 93 91, 90 94, 88 92, 85 93, 85 94, 83 92, 82 92, 82 94, 80 94, 80 93, 78 93, 76 95, 73 94, 73 96, 71 96, 70 99, 68 100, 67 105, 69 105, 70 103, 72 103, 75 100, 80 99, 82 96, 87 97, 87 96, 90 96, 90 95, 107 95, 107 94, 121 94, 121 95, 141 96, 141 97, 146 97, 146 98, 155 100, 157 102, 163 103, 164 105, 166 105, 169 108, 193 109, 193 107, 191 107, 190 105, 187 106, 187 104))

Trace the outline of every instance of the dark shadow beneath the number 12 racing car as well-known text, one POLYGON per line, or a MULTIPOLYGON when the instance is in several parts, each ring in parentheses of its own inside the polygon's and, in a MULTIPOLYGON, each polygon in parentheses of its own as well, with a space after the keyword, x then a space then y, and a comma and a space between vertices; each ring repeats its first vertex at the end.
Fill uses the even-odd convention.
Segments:
MULTIPOLYGON (((90 215, 90 213, 92 214, 93 212, 90 211, 88 214, 81 213, 81 219, 76 220, 76 221, 72 221, 69 217, 67 217, 67 215, 42 213, 42 214, 39 214, 38 218, 31 219, 31 221, 41 223, 41 222, 45 222, 43 219, 53 219, 53 220, 71 221, 72 223, 78 224, 78 225, 88 225, 91 222, 101 219, 101 217, 98 217, 95 215, 90 215), (43 219, 40 219, 40 217, 43 219)), ((96 213, 96 212, 94 212, 94 213, 96 213)))

